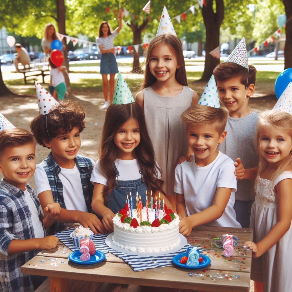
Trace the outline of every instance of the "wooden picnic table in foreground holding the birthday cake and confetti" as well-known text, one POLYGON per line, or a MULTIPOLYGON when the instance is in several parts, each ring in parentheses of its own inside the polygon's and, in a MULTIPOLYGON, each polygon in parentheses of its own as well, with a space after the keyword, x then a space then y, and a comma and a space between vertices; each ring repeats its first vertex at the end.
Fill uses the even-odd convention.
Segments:
POLYGON ((50 278, 50 291, 70 291, 67 279, 132 284, 142 286, 192 289, 216 292, 248 292, 251 274, 251 251, 244 249, 243 243, 252 240, 252 229, 228 227, 196 227, 187 237, 192 246, 200 245, 203 254, 211 258, 211 264, 199 270, 179 269, 174 265, 134 272, 122 259, 111 253, 106 260, 92 266, 75 265, 68 260, 72 251, 62 242, 48 251, 41 251, 21 267, 25 274, 50 278), (222 249, 211 243, 215 236, 232 234, 239 238, 230 258, 222 255, 222 249))

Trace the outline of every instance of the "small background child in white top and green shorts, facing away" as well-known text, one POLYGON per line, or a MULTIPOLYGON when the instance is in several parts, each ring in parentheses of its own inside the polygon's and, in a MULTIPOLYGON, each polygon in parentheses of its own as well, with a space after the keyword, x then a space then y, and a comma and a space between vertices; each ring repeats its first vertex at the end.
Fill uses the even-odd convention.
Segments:
POLYGON ((51 61, 51 58, 48 59, 50 66, 51 66, 51 81, 50 81, 50 86, 54 87, 53 91, 53 98, 55 100, 62 100, 64 99, 64 95, 66 93, 66 85, 65 85, 65 78, 63 72, 66 71, 65 66, 57 67, 56 65, 53 64, 51 61))

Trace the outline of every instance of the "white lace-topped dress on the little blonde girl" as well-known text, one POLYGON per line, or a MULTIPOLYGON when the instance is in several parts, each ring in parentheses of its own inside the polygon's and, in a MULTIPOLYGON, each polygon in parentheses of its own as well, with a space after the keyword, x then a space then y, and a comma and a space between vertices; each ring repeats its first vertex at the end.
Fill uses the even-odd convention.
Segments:
MULTIPOLYGON (((284 171, 275 180, 291 178, 291 171, 284 171)), ((250 228, 253 241, 262 240, 277 223, 277 194, 269 189, 270 180, 258 178, 256 198, 251 209, 250 228)), ((292 226, 280 241, 257 259, 252 259, 251 279, 264 283, 264 292, 286 292, 292 289, 292 226)))

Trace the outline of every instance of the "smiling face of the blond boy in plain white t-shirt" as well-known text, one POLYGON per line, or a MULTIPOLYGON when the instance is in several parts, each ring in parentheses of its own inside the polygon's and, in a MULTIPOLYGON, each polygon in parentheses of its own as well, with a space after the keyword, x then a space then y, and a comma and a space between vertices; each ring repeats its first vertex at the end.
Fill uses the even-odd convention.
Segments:
POLYGON ((187 129, 189 145, 194 152, 198 166, 206 166, 214 161, 218 155, 218 144, 221 144, 226 136, 226 131, 220 135, 214 125, 204 124, 187 129))

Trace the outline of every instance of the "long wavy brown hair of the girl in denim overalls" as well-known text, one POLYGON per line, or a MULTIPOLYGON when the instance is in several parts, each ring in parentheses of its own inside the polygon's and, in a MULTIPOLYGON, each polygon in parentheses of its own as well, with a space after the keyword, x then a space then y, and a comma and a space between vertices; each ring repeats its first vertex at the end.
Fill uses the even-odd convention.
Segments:
POLYGON ((153 145, 147 132, 144 114, 140 105, 136 102, 114 105, 111 104, 105 114, 105 123, 102 129, 102 138, 99 149, 99 166, 108 183, 103 191, 103 197, 107 199, 107 195, 114 189, 114 181, 116 172, 113 167, 114 161, 118 156, 118 147, 114 143, 114 136, 119 128, 126 121, 134 119, 137 121, 140 129, 140 143, 133 150, 133 156, 137 159, 140 169, 145 178, 145 183, 152 191, 159 190, 165 194, 162 185, 163 180, 157 178, 159 166, 155 161, 153 145))

